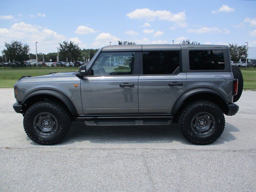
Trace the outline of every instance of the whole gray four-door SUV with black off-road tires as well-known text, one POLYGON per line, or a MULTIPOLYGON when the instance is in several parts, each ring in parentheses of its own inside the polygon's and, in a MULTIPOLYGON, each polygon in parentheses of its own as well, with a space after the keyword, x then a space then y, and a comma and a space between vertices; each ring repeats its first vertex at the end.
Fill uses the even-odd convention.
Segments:
POLYGON ((73 120, 88 126, 177 122, 188 141, 210 144, 224 130, 224 114, 238 112, 233 102, 242 83, 227 46, 106 46, 78 72, 21 77, 13 107, 38 144, 60 142, 73 120))

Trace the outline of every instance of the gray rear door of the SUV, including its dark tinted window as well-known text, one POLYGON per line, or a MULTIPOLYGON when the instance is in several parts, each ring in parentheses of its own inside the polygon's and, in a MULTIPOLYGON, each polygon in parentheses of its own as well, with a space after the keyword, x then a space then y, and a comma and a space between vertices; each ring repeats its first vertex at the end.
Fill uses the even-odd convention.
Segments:
POLYGON ((187 91, 186 73, 180 70, 180 49, 147 50, 142 47, 139 77, 140 114, 170 114, 176 100, 187 91))

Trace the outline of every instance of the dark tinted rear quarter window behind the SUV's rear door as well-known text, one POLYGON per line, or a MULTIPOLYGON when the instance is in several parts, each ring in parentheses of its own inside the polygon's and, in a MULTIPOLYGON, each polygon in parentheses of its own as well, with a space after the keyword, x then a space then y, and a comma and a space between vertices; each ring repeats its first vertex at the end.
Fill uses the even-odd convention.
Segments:
POLYGON ((189 51, 190 70, 224 70, 224 54, 219 50, 189 51))

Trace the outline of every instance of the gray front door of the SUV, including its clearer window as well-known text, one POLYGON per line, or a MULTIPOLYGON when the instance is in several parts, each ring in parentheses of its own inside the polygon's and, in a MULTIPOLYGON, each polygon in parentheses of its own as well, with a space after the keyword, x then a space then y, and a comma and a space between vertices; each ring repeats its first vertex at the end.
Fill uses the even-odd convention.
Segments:
POLYGON ((138 114, 138 78, 133 75, 135 52, 102 52, 81 80, 85 115, 138 114))

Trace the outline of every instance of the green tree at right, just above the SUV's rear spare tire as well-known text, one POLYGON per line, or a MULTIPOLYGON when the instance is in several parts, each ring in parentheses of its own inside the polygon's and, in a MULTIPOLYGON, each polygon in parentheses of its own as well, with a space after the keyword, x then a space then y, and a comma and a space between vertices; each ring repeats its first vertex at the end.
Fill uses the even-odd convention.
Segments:
POLYGON ((248 53, 245 45, 238 46, 237 44, 229 43, 229 51, 231 60, 237 63, 240 59, 246 60, 248 53))

